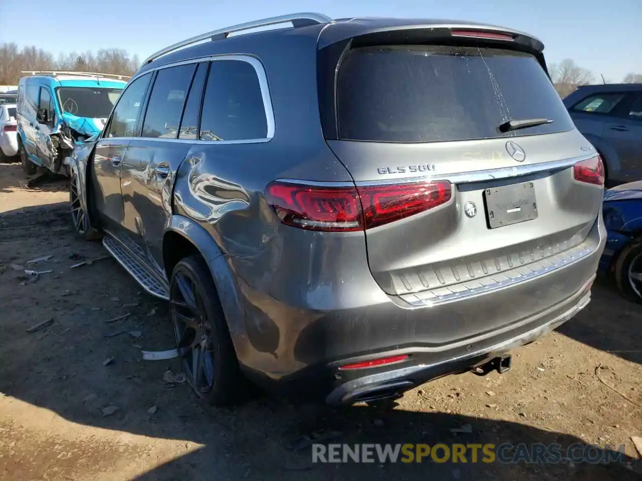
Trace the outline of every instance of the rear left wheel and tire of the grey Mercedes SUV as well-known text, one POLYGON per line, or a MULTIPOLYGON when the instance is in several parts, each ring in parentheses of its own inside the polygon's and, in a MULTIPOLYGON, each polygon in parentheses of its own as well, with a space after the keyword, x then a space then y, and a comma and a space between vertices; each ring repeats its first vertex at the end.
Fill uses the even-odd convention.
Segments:
POLYGON ((183 369, 193 391, 214 406, 240 401, 247 381, 239 369, 216 287, 199 255, 183 258, 174 267, 169 304, 183 369))

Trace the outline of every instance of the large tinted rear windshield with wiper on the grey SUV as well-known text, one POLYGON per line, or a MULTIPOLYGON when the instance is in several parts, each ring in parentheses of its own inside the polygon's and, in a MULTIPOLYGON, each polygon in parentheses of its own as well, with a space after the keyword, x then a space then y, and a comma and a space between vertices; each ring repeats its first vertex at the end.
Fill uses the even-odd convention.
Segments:
POLYGON ((534 56, 462 46, 361 47, 337 80, 343 140, 438 142, 571 130, 564 104, 534 56), (553 122, 499 131, 509 120, 553 122))

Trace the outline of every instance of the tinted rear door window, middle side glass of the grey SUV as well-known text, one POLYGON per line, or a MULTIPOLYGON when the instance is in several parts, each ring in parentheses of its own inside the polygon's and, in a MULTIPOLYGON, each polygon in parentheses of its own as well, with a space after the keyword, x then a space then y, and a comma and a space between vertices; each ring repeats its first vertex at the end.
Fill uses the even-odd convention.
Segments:
POLYGON ((158 72, 143 122, 143 137, 176 139, 195 68, 194 64, 180 65, 158 72))

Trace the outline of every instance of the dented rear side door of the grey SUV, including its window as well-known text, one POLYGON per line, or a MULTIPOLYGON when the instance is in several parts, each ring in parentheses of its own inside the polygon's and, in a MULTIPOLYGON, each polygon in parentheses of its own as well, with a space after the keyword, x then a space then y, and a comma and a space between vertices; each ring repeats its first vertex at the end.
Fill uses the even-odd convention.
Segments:
MULTIPOLYGON (((178 135, 190 85, 185 124, 196 128, 207 63, 160 69, 153 82, 141 135, 130 142, 121 171, 125 235, 162 272, 162 237, 172 214, 174 173, 191 147, 178 135), (193 83, 194 81, 194 83, 193 83)), ((189 137, 187 137, 189 139, 189 137)))

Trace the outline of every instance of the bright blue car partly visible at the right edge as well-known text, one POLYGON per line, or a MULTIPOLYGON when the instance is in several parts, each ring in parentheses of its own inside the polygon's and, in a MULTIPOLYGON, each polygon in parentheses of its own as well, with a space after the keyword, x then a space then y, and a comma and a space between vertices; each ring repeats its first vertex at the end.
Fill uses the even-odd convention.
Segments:
POLYGON ((600 269, 612 271, 620 291, 642 303, 642 181, 606 190, 603 216, 609 235, 600 269))

